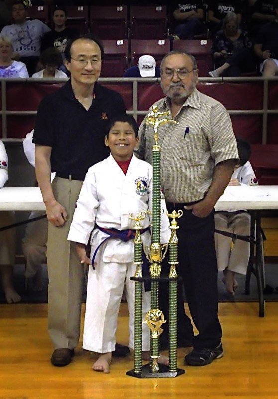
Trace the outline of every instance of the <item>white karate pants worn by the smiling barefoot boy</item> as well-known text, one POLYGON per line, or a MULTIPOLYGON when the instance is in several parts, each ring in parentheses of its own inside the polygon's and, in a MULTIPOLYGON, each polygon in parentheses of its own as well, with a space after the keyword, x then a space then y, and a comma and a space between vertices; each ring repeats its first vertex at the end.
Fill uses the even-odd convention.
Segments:
MULTIPOLYGON (((99 252, 102 252, 102 248, 99 252)), ((102 259, 102 253, 98 254, 98 259, 102 259)), ((115 350, 117 318, 124 286, 129 309, 129 348, 134 349, 135 282, 130 280, 130 277, 134 276, 135 268, 133 262, 107 263, 102 260, 95 266, 95 270, 92 266, 89 267, 83 334, 84 349, 98 353, 115 350)), ((146 313, 150 310, 150 292, 145 292, 144 286, 142 310, 144 320, 146 313)), ((146 324, 142 325, 142 329, 142 350, 148 351, 150 330, 146 324)))

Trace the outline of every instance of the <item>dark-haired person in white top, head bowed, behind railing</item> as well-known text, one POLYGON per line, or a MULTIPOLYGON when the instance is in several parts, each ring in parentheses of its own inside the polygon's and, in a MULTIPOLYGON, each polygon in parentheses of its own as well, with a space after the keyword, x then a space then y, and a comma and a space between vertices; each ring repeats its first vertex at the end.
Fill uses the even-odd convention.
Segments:
POLYGON ((60 78, 67 79, 68 76, 59 67, 63 64, 62 54, 56 48, 47 48, 39 57, 39 62, 44 66, 39 72, 32 75, 32 78, 60 78))

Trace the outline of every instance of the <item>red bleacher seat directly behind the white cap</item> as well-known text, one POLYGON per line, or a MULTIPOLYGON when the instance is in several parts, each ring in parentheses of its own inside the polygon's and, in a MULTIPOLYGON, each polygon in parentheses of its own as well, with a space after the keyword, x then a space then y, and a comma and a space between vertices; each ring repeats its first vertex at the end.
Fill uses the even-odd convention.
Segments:
POLYGON ((156 66, 170 51, 170 40, 131 40, 131 64, 137 65, 141 55, 149 54, 155 58, 156 66))

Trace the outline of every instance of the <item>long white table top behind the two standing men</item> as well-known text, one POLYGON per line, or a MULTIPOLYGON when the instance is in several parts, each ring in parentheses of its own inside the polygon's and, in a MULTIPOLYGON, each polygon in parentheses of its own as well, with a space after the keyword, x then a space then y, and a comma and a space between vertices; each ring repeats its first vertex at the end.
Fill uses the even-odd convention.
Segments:
MULTIPOLYGON (((278 209, 278 186, 228 186, 215 209, 278 209)), ((0 210, 45 210, 45 205, 38 187, 3 187, 0 210)))

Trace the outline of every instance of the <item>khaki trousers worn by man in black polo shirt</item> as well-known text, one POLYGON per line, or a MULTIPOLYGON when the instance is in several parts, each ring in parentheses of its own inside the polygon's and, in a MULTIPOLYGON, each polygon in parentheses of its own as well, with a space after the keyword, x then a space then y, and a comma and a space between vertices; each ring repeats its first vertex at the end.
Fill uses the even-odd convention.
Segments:
POLYGON ((57 177, 52 183, 56 200, 68 214, 63 226, 48 226, 48 332, 55 349, 74 349, 80 336, 84 266, 67 236, 81 186, 81 181, 57 177))

